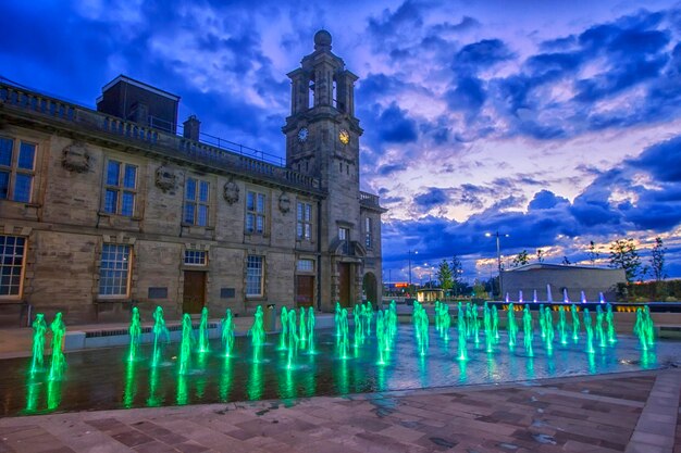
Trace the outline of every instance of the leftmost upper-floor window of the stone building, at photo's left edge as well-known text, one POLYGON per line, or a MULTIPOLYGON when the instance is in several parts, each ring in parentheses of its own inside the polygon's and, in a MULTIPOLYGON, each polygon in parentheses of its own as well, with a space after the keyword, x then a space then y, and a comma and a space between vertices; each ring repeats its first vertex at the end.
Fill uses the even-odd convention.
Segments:
POLYGON ((30 202, 36 146, 0 137, 0 200, 30 202))

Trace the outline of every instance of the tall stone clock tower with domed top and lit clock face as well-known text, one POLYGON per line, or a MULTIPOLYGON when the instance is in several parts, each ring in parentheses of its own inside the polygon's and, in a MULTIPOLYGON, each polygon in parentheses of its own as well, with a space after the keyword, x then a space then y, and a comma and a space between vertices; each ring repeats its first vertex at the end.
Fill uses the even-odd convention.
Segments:
MULTIPOLYGON (((282 129, 286 135, 286 166, 318 178, 326 194, 318 207, 315 228, 319 291, 325 307, 336 301, 342 305, 361 302, 364 274, 376 263, 364 247, 366 229, 374 219, 364 218, 360 203, 359 137, 363 130, 355 117, 358 77, 331 51, 331 42, 329 32, 318 32, 314 51, 302 59, 300 67, 288 73, 290 116, 282 129)), ((374 230, 380 228, 380 212, 375 223, 374 230)), ((380 276, 377 250, 379 269, 371 272, 379 272, 380 276)))

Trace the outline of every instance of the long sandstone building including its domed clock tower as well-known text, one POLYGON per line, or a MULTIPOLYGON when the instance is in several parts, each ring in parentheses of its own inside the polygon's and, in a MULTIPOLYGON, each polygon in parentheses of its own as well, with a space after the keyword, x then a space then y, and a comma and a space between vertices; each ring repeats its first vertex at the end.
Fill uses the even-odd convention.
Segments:
POLYGON ((195 116, 177 135, 179 98, 125 76, 97 111, 0 84, 0 311, 74 323, 380 301, 357 77, 324 30, 288 76, 285 165, 207 144, 195 116))

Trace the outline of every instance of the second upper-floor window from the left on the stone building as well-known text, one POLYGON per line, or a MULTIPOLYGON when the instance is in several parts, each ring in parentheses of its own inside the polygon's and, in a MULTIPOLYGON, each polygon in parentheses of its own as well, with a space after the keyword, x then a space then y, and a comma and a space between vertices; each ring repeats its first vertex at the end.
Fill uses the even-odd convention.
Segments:
POLYGON ((104 212, 132 217, 137 196, 137 166, 110 160, 107 162, 104 212))

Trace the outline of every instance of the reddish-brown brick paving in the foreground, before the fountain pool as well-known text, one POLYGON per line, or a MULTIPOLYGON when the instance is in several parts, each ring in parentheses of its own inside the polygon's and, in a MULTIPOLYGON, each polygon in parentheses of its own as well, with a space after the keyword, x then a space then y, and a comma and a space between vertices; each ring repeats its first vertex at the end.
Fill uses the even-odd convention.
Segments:
POLYGON ((0 453, 681 453, 679 387, 681 370, 669 368, 345 398, 11 417, 0 419, 0 453))

